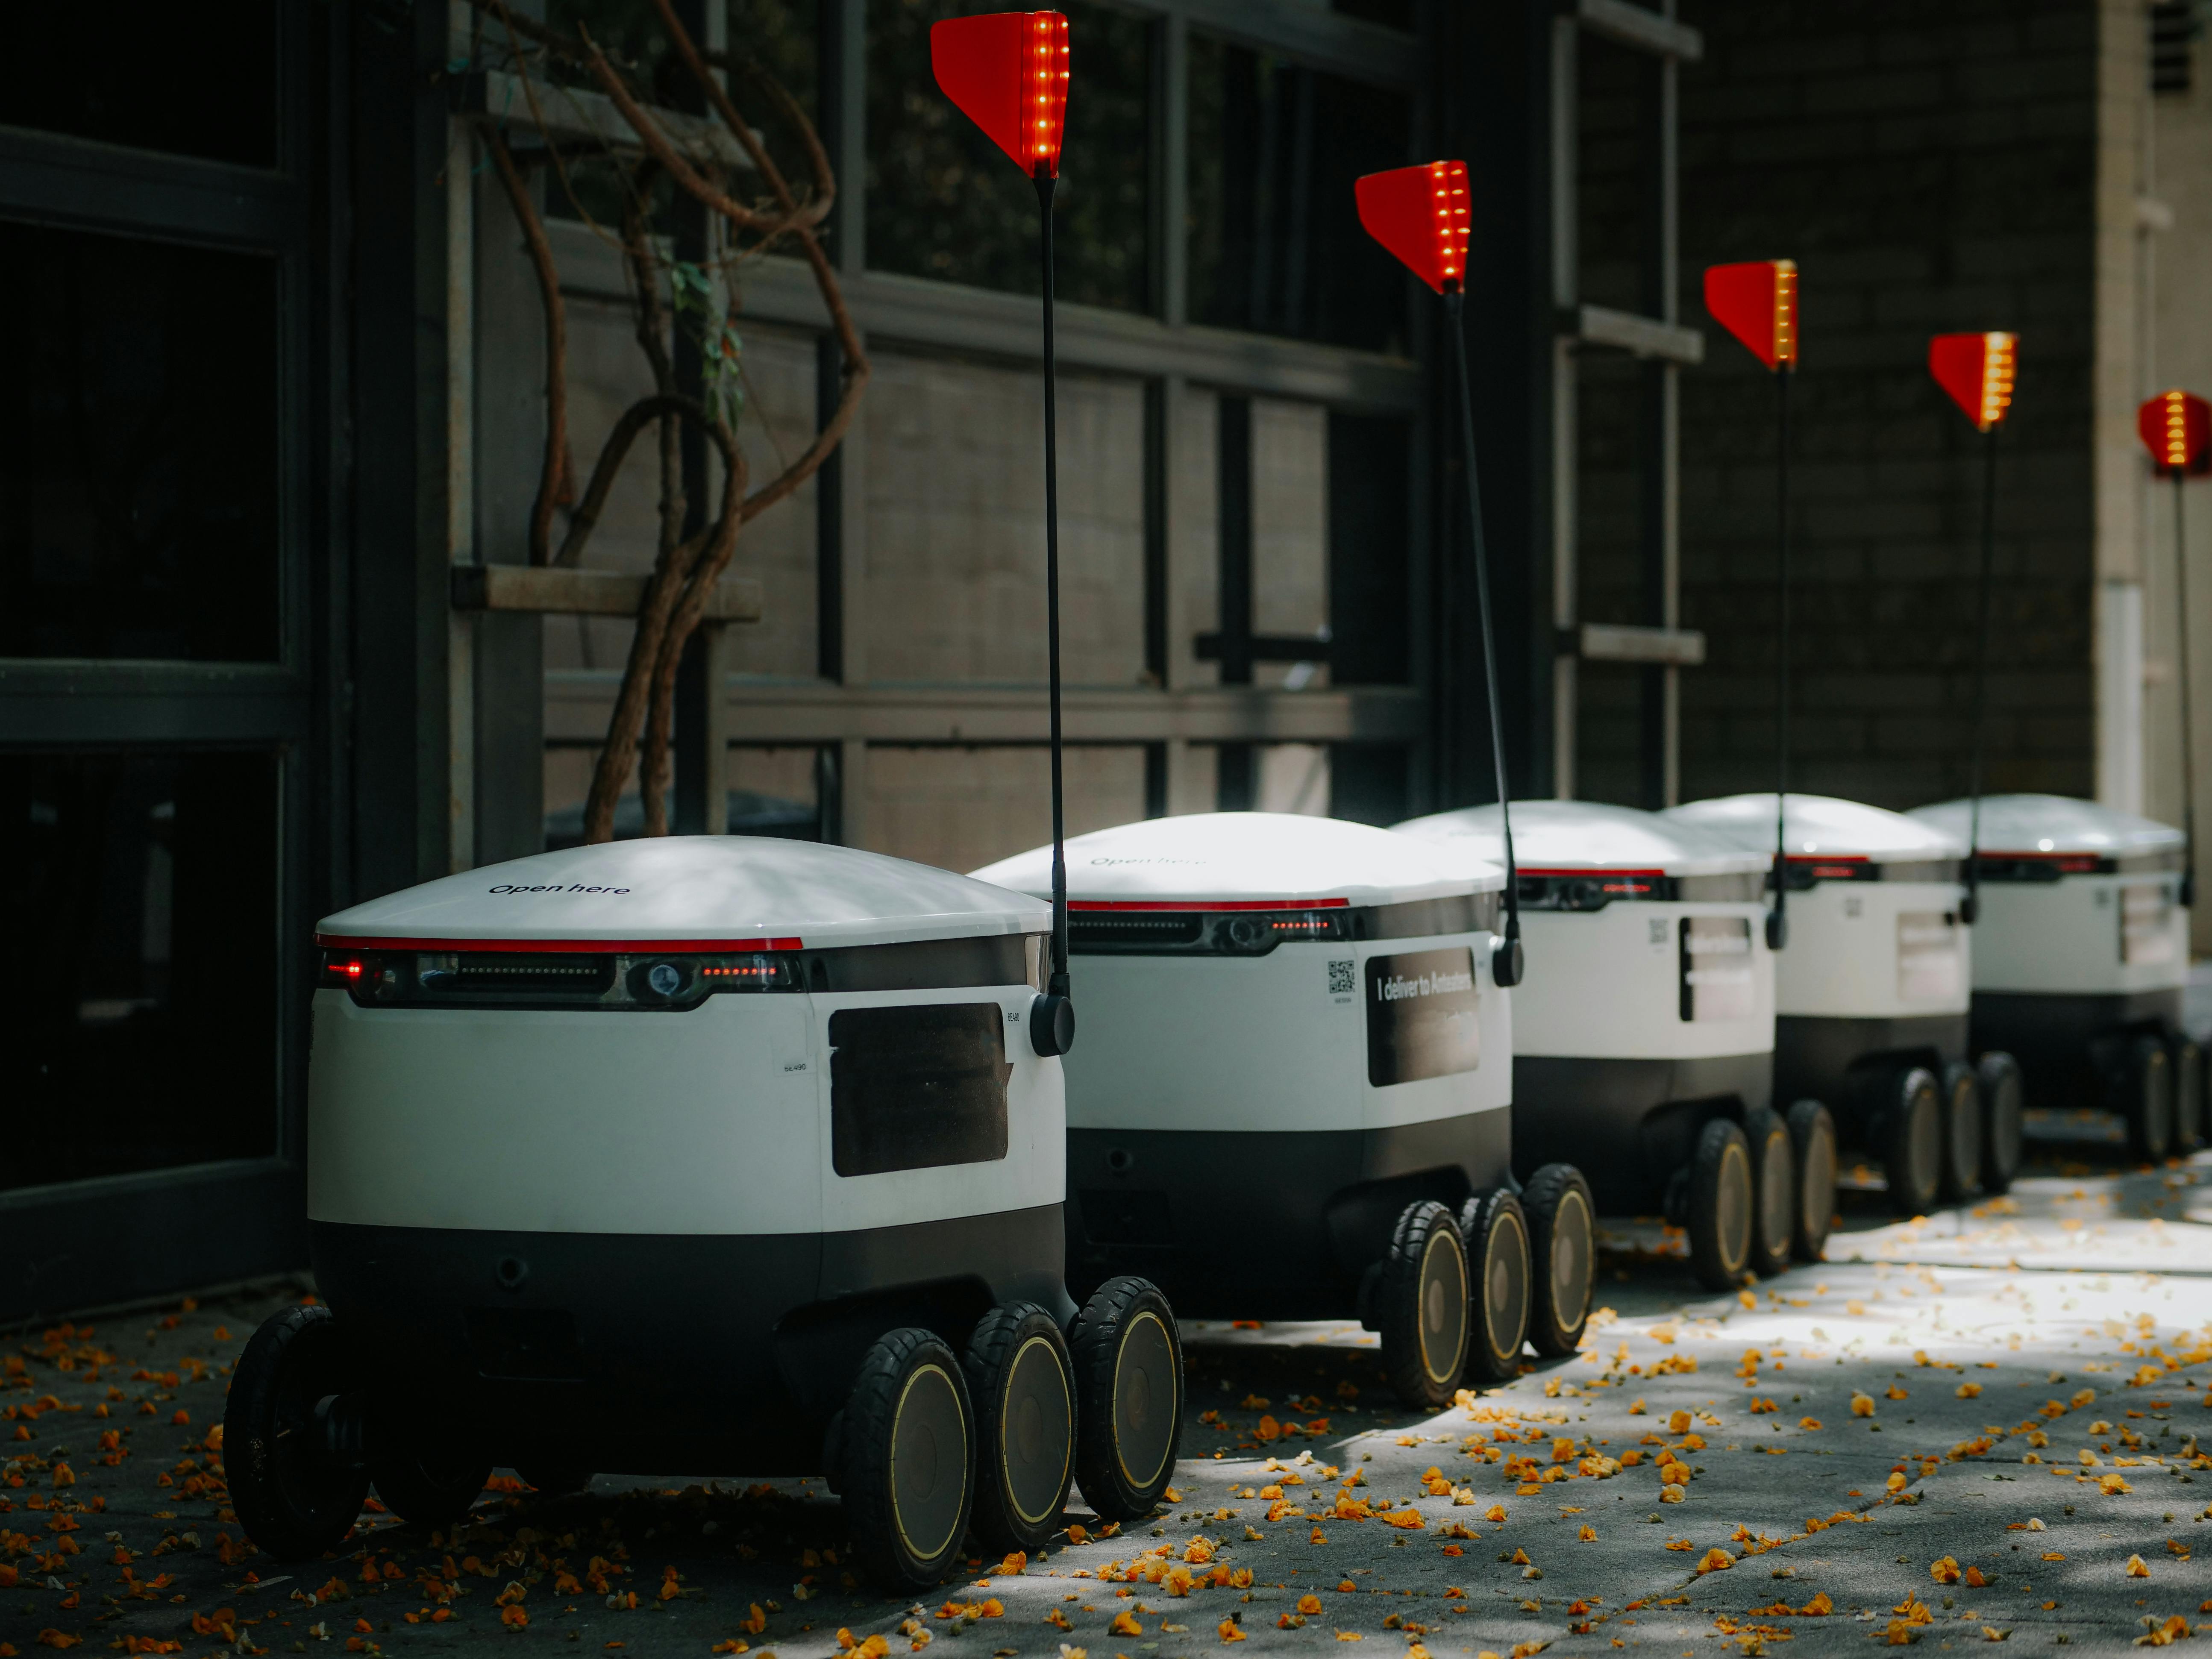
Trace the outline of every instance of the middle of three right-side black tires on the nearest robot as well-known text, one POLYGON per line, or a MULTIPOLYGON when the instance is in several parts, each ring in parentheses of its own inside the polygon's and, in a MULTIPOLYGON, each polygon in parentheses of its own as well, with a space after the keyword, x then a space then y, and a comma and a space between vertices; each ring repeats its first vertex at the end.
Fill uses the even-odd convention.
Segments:
POLYGON ((1035 1303, 982 1316, 967 1352, 975 1402, 975 1537, 1000 1553, 1035 1551, 1062 1526, 1075 1480, 1075 1363, 1035 1303))

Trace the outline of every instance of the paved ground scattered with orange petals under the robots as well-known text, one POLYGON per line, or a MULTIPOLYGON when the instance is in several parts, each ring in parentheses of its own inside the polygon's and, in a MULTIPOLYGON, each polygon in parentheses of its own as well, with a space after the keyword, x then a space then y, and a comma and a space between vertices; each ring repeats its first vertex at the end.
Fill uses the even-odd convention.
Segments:
POLYGON ((208 1429, 252 1325, 301 1287, 27 1332, 0 1378, 0 1659, 2119 1648, 2212 1608, 2197 1206, 2212 1221, 2212 1159, 2053 1159, 1924 1223, 1858 1199, 1832 1261, 1739 1298, 1624 1230, 1582 1356, 1431 1420, 1389 1405, 1356 1327, 1192 1327, 1172 1511, 1018 1573, 975 1562, 927 1604, 852 1586, 818 1482, 602 1478, 544 1502, 504 1480, 460 1537, 372 1511, 352 1553, 288 1571, 243 1546, 208 1429))

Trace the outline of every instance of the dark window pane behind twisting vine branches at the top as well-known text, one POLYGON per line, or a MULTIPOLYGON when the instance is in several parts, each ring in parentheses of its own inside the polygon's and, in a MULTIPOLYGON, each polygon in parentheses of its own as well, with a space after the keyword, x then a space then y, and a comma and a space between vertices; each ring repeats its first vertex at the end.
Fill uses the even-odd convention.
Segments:
MULTIPOLYGON (((710 4, 717 2, 710 0, 710 4)), ((686 9, 677 7, 677 15, 684 13, 686 9)), ((478 20, 482 62, 511 69, 513 51, 498 15, 480 11, 478 20)), ((728 20, 732 58, 761 64, 799 102, 807 119, 814 119, 816 0, 728 0, 728 20)), ((668 44, 668 31, 661 29, 653 7, 639 0, 551 0, 546 22, 566 35, 575 35, 580 29, 588 31, 617 64, 633 69, 653 88, 659 104, 699 108, 699 93, 668 44)), ((542 60, 531 62, 531 75, 595 88, 588 75, 568 66, 549 66, 542 60)), ((540 97, 544 95, 549 93, 540 91, 540 97)), ((810 179, 805 146, 774 117, 768 100, 743 75, 730 77, 730 95, 745 119, 765 137, 768 153, 776 157, 783 175, 792 184, 810 179)), ((529 108, 518 108, 513 119, 529 128, 529 108)), ((520 144, 520 139, 513 142, 520 144)), ((564 170, 566 186, 551 170, 546 175, 546 217, 593 219, 611 230, 619 228, 624 204, 635 188, 637 157, 577 150, 566 157, 564 170)), ((765 195, 752 175, 741 175, 734 184, 741 197, 765 195)), ((675 201, 668 179, 655 170, 648 188, 655 215, 666 215, 675 201)), ((661 223, 666 226, 666 219, 661 223)))

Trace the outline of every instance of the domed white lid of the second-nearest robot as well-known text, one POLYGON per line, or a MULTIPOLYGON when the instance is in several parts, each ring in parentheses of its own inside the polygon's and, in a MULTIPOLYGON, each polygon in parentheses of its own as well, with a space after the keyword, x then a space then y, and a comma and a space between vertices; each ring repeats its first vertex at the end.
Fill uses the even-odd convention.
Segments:
MULTIPOLYGON (((1051 894, 1053 849, 1000 858, 975 878, 1051 894)), ((1447 863, 1389 830, 1294 812, 1192 812, 1068 841, 1071 905, 1402 905, 1495 894, 1504 885, 1498 865, 1447 863)))

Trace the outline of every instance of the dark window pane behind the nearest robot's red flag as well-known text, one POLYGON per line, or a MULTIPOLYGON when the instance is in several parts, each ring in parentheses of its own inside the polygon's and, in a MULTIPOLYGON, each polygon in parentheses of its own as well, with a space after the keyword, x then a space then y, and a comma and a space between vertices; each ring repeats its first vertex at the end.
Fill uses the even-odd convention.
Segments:
MULTIPOLYGON (((867 4, 867 263, 1037 292, 1037 192, 929 73, 929 24, 956 0, 867 4)), ((1053 204, 1060 299, 1148 305, 1150 24, 1068 0, 1068 133, 1053 204)))

